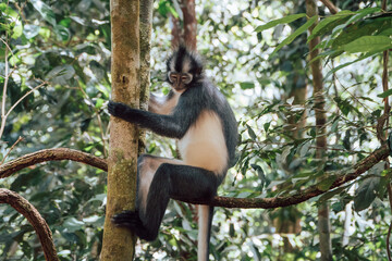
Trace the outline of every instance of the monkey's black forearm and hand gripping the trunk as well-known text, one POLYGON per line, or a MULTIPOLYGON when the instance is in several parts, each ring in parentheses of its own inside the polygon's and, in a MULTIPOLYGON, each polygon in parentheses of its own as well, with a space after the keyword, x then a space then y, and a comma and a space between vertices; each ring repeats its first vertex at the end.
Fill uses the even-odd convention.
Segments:
POLYGON ((109 101, 109 113, 126 122, 135 123, 143 128, 161 136, 182 138, 187 129, 187 120, 175 115, 161 115, 154 112, 132 109, 121 102, 109 101))

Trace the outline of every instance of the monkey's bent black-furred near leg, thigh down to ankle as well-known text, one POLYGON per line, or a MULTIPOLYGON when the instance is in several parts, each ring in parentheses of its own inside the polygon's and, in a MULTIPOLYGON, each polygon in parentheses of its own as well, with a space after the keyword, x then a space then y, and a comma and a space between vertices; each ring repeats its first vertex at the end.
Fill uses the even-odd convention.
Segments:
POLYGON ((216 195, 218 185, 216 174, 210 171, 188 165, 161 164, 150 184, 146 209, 139 213, 145 231, 138 236, 147 240, 157 237, 170 197, 208 199, 216 195))

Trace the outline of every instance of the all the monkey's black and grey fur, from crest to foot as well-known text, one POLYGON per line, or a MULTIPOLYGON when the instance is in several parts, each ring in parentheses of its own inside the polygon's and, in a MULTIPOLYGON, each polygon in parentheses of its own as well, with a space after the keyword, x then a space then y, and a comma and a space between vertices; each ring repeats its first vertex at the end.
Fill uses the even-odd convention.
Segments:
MULTIPOLYGON (((213 173, 189 165, 162 163, 150 183, 146 209, 139 209, 140 203, 138 202, 135 211, 125 211, 112 219, 117 225, 132 229, 139 238, 146 240, 154 240, 157 237, 170 197, 184 199, 215 197, 226 171, 235 163, 234 150, 237 142, 237 125, 228 101, 217 87, 204 76, 201 60, 196 54, 188 52, 184 47, 180 47, 169 58, 168 70, 170 70, 173 59, 176 72, 182 72, 184 61, 191 61, 188 67, 189 73, 193 74, 193 80, 181 94, 176 107, 169 115, 132 109, 126 104, 113 101, 109 102, 109 113, 159 135, 181 139, 196 122, 201 111, 213 111, 221 120, 229 159, 226 165, 223 166, 223 173, 213 173)), ((171 91, 169 99, 173 96, 171 91)), ((154 157, 142 156, 138 160, 138 171, 147 159, 154 160, 154 157), (148 159, 148 157, 150 158, 148 159)), ((138 173, 139 176, 140 173, 138 173)), ((138 179, 138 189, 139 184, 140 181, 138 179)), ((210 208, 211 214, 212 210, 210 208)))

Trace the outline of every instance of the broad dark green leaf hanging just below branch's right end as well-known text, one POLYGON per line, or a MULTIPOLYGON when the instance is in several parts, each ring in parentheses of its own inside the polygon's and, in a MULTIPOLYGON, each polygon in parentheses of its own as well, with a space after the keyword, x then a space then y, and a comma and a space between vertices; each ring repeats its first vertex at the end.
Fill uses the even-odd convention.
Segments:
POLYGON ((369 177, 359 185, 354 198, 355 211, 362 211, 369 208, 369 206, 376 199, 379 183, 380 177, 369 177))

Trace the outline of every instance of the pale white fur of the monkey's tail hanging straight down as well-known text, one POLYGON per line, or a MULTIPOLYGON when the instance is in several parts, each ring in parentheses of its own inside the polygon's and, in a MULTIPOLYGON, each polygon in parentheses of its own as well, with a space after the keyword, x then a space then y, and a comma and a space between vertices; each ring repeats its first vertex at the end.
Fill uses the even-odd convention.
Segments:
POLYGON ((198 236, 197 236, 197 261, 207 261, 208 251, 208 215, 209 206, 198 207, 198 236))

